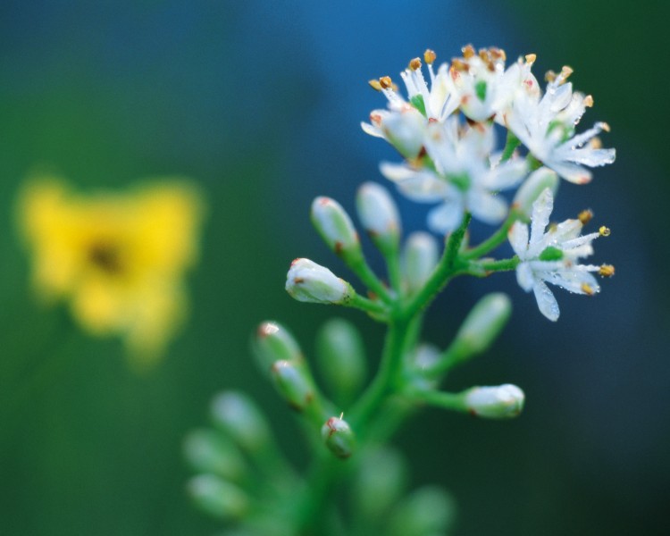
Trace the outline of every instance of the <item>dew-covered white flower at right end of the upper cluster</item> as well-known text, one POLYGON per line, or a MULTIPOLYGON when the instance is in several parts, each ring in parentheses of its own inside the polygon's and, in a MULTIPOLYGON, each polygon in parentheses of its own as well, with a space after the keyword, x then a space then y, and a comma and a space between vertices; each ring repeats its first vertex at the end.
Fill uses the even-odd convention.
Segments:
POLYGON ((574 134, 593 98, 573 93, 572 84, 565 83, 571 73, 569 67, 558 75, 550 73, 544 96, 534 89, 517 92, 514 104, 504 113, 504 122, 541 163, 565 180, 584 184, 591 179, 591 172, 584 166, 613 163, 616 152, 600 148, 594 139, 602 130, 609 130, 607 123, 597 122, 582 134, 574 134))

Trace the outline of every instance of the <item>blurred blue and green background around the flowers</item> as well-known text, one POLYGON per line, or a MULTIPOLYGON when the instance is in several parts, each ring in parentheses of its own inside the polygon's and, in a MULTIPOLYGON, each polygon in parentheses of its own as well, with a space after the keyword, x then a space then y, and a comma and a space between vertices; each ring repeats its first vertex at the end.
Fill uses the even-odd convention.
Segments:
MULTIPOLYGON (((668 5, 4 0, 0 534, 213 532, 185 498, 180 443, 206 423, 218 389, 253 394, 299 452, 249 334, 281 320, 310 352, 318 325, 340 314, 294 303, 283 282, 296 256, 343 272, 308 223, 309 203, 325 194, 353 208, 357 185, 381 181, 378 162, 395 158, 358 126, 383 105, 366 80, 396 75, 427 46, 446 60, 467 43, 534 52, 538 74, 570 64, 575 87, 595 96, 584 124, 610 123, 617 162, 589 186, 564 183, 557 211, 590 207, 607 223, 597 262, 617 272, 596 298, 560 293, 556 325, 512 274, 458 281, 427 339, 446 344, 492 289, 511 294, 515 314, 448 387, 511 381, 526 410, 510 423, 427 411, 396 443, 415 484, 453 491, 456 534, 667 534, 668 5), (132 373, 118 340, 93 339, 64 307, 32 299, 13 200, 36 166, 84 189, 180 174, 205 190, 188 326, 152 373, 132 373)), ((426 207, 400 203, 406 229, 420 228, 426 207)), ((380 328, 347 316, 376 352, 380 328)))

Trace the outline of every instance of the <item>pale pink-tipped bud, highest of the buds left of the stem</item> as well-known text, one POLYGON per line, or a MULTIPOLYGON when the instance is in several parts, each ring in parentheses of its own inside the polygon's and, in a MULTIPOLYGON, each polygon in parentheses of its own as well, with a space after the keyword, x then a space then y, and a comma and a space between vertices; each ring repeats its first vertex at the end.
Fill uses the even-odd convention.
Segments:
POLYGON ((389 191, 374 182, 364 182, 358 188, 356 208, 374 245, 384 253, 395 251, 400 240, 400 217, 389 191))

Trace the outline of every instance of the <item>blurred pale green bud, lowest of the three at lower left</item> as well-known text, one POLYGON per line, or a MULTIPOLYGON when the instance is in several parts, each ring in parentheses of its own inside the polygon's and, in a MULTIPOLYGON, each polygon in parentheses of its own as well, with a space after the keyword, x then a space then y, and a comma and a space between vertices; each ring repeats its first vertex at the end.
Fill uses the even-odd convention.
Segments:
POLYGON ((197 475, 188 482, 187 490, 198 508, 219 519, 240 519, 249 507, 244 491, 214 474, 197 475))

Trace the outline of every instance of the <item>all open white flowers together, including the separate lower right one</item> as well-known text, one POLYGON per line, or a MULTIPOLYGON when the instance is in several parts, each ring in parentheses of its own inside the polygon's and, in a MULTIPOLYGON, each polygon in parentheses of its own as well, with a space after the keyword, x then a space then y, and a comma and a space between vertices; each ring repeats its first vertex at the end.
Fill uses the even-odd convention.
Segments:
POLYGON ((509 234, 520 261, 518 281, 526 291, 535 292, 540 311, 556 320, 556 300, 545 282, 592 294, 599 285, 591 272, 611 275, 611 267, 576 264, 579 257, 592 253, 590 242, 598 236, 580 237, 579 220, 544 232, 557 177, 585 184, 591 179, 588 168, 614 162, 615 149, 601 148, 597 138, 609 127, 597 122, 576 133, 593 98, 573 90, 569 67, 549 71, 543 91, 532 74, 535 54, 506 67, 506 54, 498 48, 475 51, 465 46, 462 52, 462 57, 437 68, 431 50, 423 54, 423 62, 418 57, 410 61, 400 73, 406 97, 388 76, 371 80, 370 85, 389 102, 387 109, 370 114, 363 130, 386 139, 404 157, 402 163, 380 166, 403 195, 438 204, 428 214, 433 232, 456 230, 466 214, 491 225, 510 216, 532 217, 530 244, 521 222, 509 234), (428 80, 423 77, 423 63, 428 80), (498 147, 500 127, 507 129, 505 147, 498 147), (500 192, 515 188, 515 212, 511 212, 500 192))

